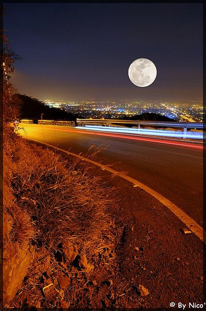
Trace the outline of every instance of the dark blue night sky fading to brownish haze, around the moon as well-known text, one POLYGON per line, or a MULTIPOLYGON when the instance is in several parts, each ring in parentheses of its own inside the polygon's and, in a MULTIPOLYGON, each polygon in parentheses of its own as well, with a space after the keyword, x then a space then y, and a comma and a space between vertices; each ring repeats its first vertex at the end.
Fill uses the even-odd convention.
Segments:
POLYGON ((202 100, 203 5, 5 3, 4 28, 22 57, 12 82, 40 100, 202 100), (155 82, 133 85, 148 58, 155 82))

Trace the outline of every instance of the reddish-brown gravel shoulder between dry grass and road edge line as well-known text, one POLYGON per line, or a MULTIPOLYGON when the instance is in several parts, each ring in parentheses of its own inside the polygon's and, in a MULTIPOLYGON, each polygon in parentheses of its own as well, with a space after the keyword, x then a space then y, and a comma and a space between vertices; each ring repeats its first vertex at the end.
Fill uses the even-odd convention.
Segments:
MULTIPOLYGON (((114 270, 110 272, 112 286, 98 292, 91 306, 104 301, 111 288, 115 302, 107 298, 108 306, 114 307, 169 308, 171 302, 187 306, 189 302, 202 303, 203 243, 193 233, 183 234, 185 225, 150 194, 89 165, 91 174, 100 175, 114 188, 118 207, 112 213, 123 229, 117 238, 114 270), (139 285, 149 294, 142 296, 139 285)), ((108 277, 107 270, 96 270, 98 282, 108 277)))

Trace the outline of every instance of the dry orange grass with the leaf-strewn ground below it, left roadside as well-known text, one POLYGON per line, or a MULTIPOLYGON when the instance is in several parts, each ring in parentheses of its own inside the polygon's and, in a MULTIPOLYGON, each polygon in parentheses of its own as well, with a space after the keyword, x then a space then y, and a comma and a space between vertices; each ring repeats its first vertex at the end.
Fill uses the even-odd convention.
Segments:
MULTIPOLYGON (((93 159, 99 151, 93 147, 87 156, 93 159)), ((110 253, 117 235, 110 212, 113 190, 98 172, 92 173, 88 162, 67 159, 26 142, 7 125, 4 154, 4 213, 8 223, 4 248, 11 256, 10 249, 18 254, 19 248, 33 246, 32 263, 9 306, 18 308, 26 298, 30 305, 41 302, 45 310, 53 308, 42 293, 51 282, 58 291, 55 306, 61 306, 62 300, 75 305, 76 293, 83 293, 92 272, 77 268, 66 247, 75 247, 75 259, 86 255, 91 268, 88 271, 104 264, 113 269, 110 253), (64 291, 60 276, 70 277, 70 286, 64 291)))

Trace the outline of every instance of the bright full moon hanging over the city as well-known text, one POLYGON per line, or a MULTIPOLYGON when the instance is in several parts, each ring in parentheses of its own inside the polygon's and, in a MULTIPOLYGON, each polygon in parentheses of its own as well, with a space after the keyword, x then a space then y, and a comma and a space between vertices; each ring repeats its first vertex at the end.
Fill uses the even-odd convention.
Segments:
POLYGON ((150 86, 156 79, 157 69, 151 60, 138 58, 129 66, 128 75, 134 85, 150 86))

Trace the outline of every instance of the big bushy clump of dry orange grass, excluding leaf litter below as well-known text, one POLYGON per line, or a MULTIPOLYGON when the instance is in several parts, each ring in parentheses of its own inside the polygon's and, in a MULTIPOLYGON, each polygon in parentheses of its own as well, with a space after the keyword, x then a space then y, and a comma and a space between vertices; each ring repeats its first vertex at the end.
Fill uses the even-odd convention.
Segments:
POLYGON ((88 165, 26 143, 8 128, 4 148, 17 167, 11 186, 21 216, 15 205, 7 207, 13 217, 12 241, 28 239, 48 251, 57 251, 66 241, 78 244, 82 251, 100 245, 111 225, 111 190, 90 176, 88 165))

